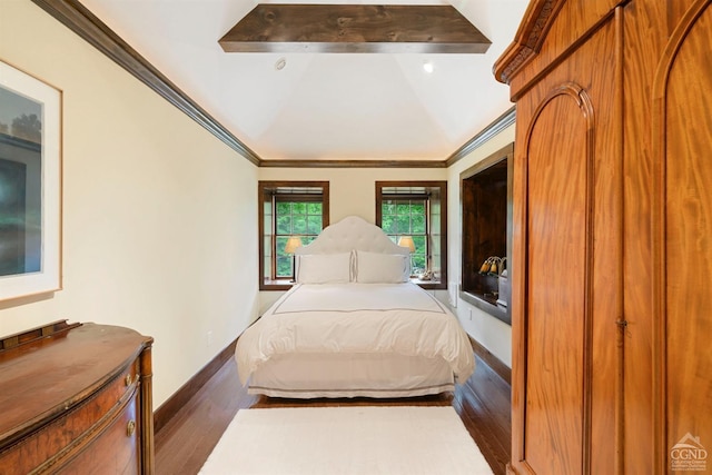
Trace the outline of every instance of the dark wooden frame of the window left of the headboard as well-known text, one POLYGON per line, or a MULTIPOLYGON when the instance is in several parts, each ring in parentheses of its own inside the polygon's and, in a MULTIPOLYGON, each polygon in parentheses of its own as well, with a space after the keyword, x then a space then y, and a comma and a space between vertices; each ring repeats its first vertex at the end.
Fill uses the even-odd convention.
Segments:
MULTIPOLYGON (((273 201, 273 192, 270 190, 277 188, 322 188, 322 229, 326 228, 329 225, 329 182, 328 181, 264 181, 259 180, 257 186, 258 194, 258 235, 259 235, 259 289, 260 290, 288 290, 291 288, 294 283, 289 281, 289 279, 266 279, 265 278, 265 204, 267 202, 267 197, 269 197, 269 201, 273 201)), ((286 194, 285 194, 286 196, 286 194)), ((295 197, 304 198, 305 195, 294 194, 295 197)), ((316 196, 316 195, 315 195, 316 196)), ((281 197, 279 198, 284 200, 281 197)), ((271 266, 270 276, 275 275, 275 266, 276 266, 276 253, 275 243, 277 239, 277 234, 275 231, 275 217, 276 217, 276 208, 273 208, 273 222, 271 222, 271 266)))

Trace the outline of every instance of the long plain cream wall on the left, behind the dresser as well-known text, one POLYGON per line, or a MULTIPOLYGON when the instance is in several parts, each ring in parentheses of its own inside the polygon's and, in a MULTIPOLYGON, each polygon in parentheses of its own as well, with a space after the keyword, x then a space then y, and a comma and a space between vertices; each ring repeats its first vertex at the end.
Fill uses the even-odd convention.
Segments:
POLYGON ((63 91, 63 289, 0 303, 0 335, 150 335, 158 407, 257 314, 257 168, 29 0, 0 1, 0 60, 63 91))

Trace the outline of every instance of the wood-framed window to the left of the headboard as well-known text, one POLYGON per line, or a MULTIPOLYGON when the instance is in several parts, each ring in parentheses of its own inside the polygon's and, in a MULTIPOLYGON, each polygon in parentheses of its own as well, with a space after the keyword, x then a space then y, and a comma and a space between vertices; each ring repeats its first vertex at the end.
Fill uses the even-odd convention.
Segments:
POLYGON ((291 286, 294 245, 306 246, 328 226, 328 181, 259 181, 260 290, 291 286))

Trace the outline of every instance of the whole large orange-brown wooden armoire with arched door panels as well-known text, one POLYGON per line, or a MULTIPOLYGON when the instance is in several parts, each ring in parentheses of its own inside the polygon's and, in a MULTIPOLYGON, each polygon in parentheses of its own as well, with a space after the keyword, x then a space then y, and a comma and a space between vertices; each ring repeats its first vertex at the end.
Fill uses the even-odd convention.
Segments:
POLYGON ((712 0, 532 0, 516 102, 515 474, 712 473, 712 0))

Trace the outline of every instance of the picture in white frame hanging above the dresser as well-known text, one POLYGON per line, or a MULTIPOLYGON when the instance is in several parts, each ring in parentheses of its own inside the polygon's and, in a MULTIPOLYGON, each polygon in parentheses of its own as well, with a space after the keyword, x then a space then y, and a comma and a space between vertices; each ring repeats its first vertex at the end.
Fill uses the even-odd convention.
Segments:
POLYGON ((61 92, 0 61, 0 300, 61 288, 61 92))

